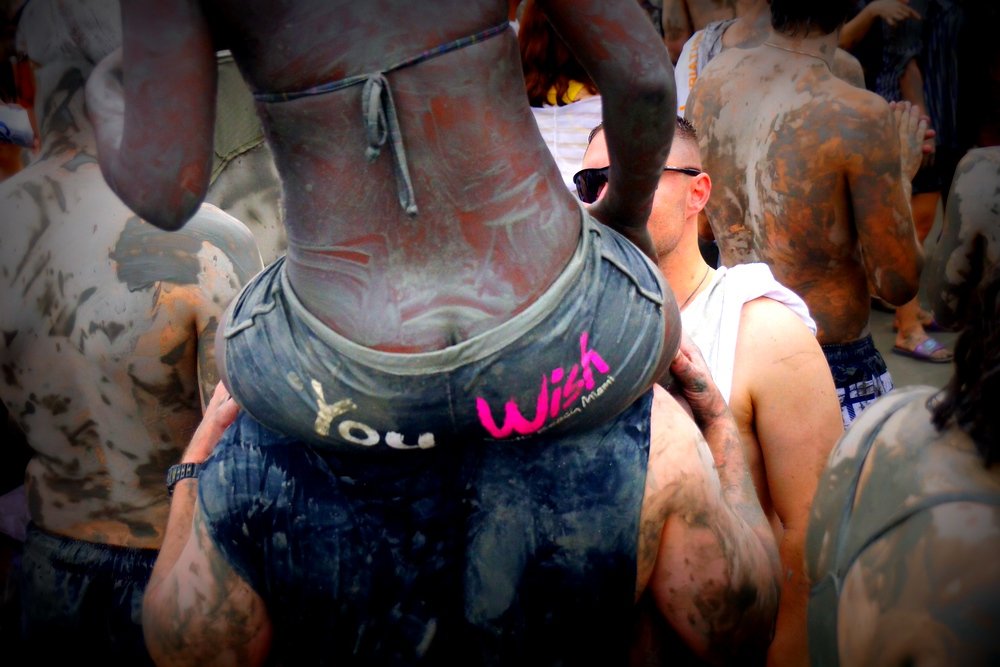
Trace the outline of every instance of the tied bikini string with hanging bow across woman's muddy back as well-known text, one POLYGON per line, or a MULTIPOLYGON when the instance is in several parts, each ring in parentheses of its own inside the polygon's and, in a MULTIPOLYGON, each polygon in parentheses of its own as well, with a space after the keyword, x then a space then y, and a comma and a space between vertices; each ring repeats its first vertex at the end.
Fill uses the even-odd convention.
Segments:
POLYGON ((402 132, 399 129, 399 116, 396 113, 396 105, 393 102, 392 93, 389 90, 389 81, 385 78, 385 75, 389 72, 417 65, 445 53, 457 51, 463 47, 482 42, 490 37, 495 37, 506 31, 509 27, 510 23, 505 21, 504 23, 477 32, 474 35, 460 37, 447 44, 428 49, 371 74, 356 74, 339 81, 331 81, 330 83, 323 83, 302 90, 278 93, 256 92, 253 96, 258 102, 289 102, 303 97, 324 95, 364 84, 364 88, 361 91, 361 114, 365 124, 365 136, 368 140, 365 157, 369 162, 373 162, 381 154, 382 146, 387 141, 389 142, 389 149, 392 151, 393 156, 393 172, 396 175, 399 205, 406 211, 408 216, 414 217, 417 215, 416 194, 413 190, 413 180, 410 178, 410 169, 406 161, 406 148, 403 145, 402 132))

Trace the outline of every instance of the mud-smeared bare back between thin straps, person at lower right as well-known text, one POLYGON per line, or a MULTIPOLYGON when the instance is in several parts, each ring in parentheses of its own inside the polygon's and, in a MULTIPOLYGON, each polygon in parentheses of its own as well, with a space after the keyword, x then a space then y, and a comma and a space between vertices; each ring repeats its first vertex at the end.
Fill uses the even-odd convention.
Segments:
MULTIPOLYGON (((936 494, 977 493, 919 512, 860 553, 842 581, 837 645, 842 665, 987 665, 1000 654, 1000 470, 986 468, 955 428, 937 432, 917 387, 881 428, 863 463, 844 558, 904 509, 936 494)), ((886 414, 882 399, 834 450, 813 505, 807 566, 818 581, 837 563, 832 531, 859 448, 886 414)), ((816 638, 810 635, 810 642, 816 638)))

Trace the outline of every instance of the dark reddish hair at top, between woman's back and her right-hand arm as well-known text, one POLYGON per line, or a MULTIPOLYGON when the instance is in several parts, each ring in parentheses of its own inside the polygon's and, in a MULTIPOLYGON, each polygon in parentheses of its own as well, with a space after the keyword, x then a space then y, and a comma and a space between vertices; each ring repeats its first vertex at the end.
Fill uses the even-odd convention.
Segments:
POLYGON ((570 81, 578 81, 588 92, 597 93, 593 79, 556 34, 535 0, 525 0, 521 6, 517 43, 531 106, 545 106, 552 88, 556 90, 556 104, 562 106, 570 81))

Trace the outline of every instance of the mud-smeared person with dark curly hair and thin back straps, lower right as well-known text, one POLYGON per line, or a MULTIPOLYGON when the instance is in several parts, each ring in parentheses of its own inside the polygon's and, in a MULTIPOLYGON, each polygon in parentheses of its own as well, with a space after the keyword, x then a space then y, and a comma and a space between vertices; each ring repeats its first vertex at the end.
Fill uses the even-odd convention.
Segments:
POLYGON ((830 457, 807 541, 813 665, 997 662, 1000 264, 984 271, 948 385, 881 398, 830 457))

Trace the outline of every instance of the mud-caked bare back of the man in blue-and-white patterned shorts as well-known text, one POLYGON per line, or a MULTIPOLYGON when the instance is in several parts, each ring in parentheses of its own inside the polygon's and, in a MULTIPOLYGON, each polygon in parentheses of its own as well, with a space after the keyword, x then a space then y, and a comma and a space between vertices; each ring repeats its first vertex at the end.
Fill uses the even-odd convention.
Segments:
POLYGON ((868 150, 853 110, 867 93, 790 55, 733 49, 699 77, 687 113, 713 179, 706 212, 723 264, 765 262, 809 304, 822 343, 852 341, 869 302, 845 173, 868 150))

